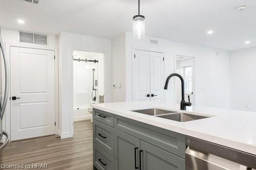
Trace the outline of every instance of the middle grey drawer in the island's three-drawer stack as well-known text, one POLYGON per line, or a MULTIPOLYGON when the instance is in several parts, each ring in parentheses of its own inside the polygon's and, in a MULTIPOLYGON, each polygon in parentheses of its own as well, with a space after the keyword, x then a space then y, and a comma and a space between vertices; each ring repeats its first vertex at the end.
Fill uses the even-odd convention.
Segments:
POLYGON ((93 141, 103 150, 114 156, 114 128, 106 124, 93 121, 93 141))

